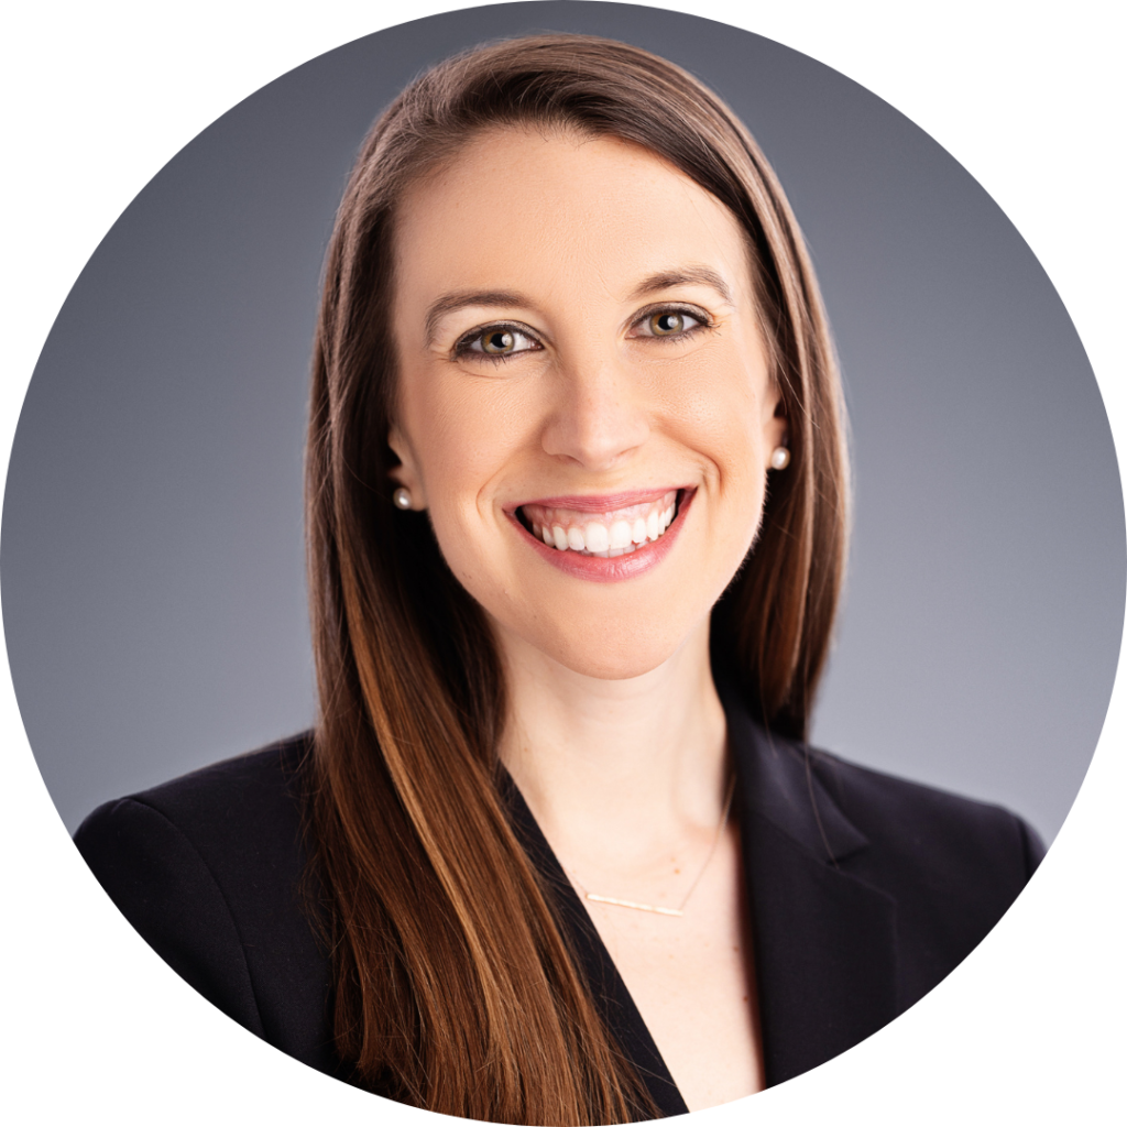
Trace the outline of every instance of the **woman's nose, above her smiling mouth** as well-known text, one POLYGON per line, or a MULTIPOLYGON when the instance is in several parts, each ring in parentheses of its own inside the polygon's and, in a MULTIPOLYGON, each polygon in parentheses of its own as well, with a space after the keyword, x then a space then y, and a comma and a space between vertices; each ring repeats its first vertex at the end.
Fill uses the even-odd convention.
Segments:
POLYGON ((541 438, 547 453, 587 470, 611 470, 646 441, 644 389, 628 365, 587 355, 561 363, 557 374, 557 403, 541 438))

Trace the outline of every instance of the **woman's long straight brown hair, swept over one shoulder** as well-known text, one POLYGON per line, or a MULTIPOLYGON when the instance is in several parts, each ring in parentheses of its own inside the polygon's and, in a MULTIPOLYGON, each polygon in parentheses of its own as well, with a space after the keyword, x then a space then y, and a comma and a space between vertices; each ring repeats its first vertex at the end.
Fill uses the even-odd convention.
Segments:
POLYGON ((620 1122, 653 1108, 506 816, 505 685, 483 613, 426 517, 390 497, 397 201, 481 130, 530 122, 644 147, 747 232, 792 460, 713 612, 713 662, 769 726, 799 738, 843 566, 843 411, 782 189, 731 112, 677 66, 586 36, 513 39, 440 64, 373 126, 328 254, 307 470, 320 693, 310 829, 336 1046, 360 1083, 434 1111, 620 1122))

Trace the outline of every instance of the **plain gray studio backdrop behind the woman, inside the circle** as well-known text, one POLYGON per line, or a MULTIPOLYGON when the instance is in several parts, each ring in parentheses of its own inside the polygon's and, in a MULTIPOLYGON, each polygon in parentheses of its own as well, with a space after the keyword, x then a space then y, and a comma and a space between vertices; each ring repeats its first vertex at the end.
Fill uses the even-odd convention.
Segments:
POLYGON ((63 820, 310 724, 301 458, 332 214, 420 68, 538 29, 699 74, 810 243, 857 464, 816 742, 1051 838, 1111 691, 1125 531, 1050 283, 949 154, 841 74, 720 24, 578 2, 438 16, 307 63, 185 148, 91 257, 20 416, 0 548, 16 692, 63 820))

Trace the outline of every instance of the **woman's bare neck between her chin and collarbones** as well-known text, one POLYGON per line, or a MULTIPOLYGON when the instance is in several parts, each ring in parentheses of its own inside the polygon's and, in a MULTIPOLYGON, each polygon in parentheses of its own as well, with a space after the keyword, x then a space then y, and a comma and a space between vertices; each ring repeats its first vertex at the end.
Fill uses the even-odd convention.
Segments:
POLYGON ((707 620, 657 668, 614 681, 576 673, 520 638, 500 641, 509 702, 500 757, 550 841, 603 848, 613 838, 614 849, 645 854, 671 834, 715 829, 726 725, 707 620))

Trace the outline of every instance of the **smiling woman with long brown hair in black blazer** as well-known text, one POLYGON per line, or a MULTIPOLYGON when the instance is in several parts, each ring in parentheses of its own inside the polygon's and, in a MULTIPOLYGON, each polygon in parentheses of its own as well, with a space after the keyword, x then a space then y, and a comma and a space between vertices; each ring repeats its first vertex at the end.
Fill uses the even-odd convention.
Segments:
POLYGON ((801 236, 713 95, 576 36, 440 65, 329 251, 317 730, 79 848, 236 1020, 433 1110, 673 1115, 843 1051, 1040 852, 804 743, 843 433, 801 236))

